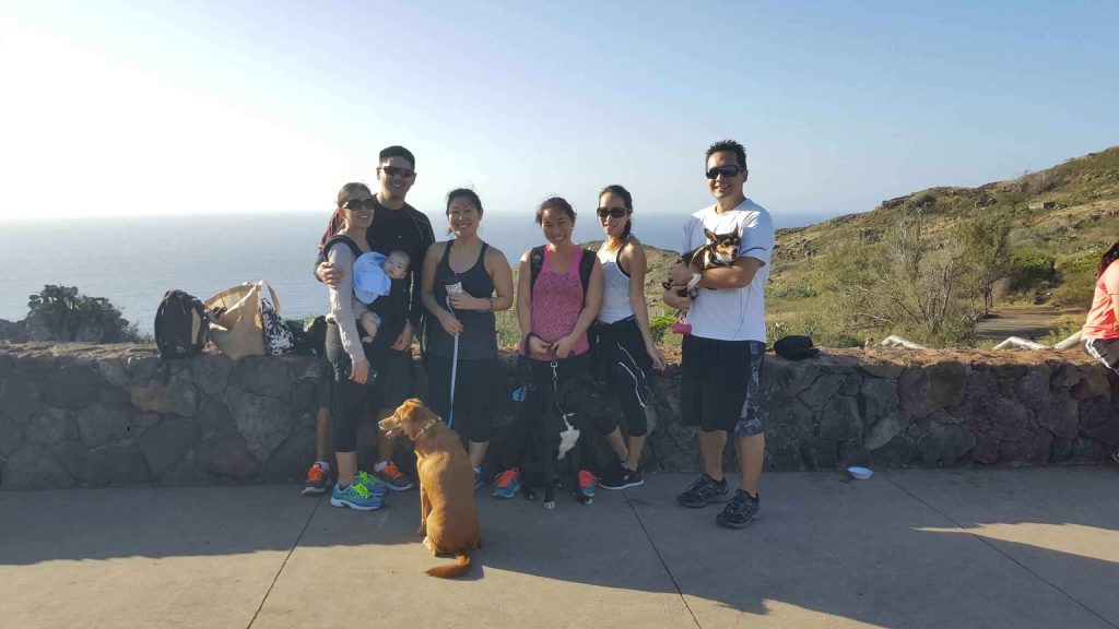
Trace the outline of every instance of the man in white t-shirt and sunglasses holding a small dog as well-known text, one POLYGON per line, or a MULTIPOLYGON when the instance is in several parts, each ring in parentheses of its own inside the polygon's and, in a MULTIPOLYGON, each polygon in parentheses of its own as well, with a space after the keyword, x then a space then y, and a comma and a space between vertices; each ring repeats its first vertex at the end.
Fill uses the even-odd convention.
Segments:
POLYGON ((687 310, 690 334, 684 337, 680 421, 699 426, 704 473, 676 500, 692 508, 727 503, 716 524, 744 528, 758 519, 758 481, 765 457, 759 416, 760 378, 765 355, 765 283, 773 251, 773 223, 765 208, 747 199, 746 151, 733 140, 707 149, 707 188, 715 205, 688 218, 684 248, 707 244, 704 229, 735 232, 741 237, 733 265, 694 275, 685 264, 669 271, 673 284, 698 285, 695 299, 665 292, 665 303, 687 310), (742 484, 733 497, 723 478, 723 450, 734 434, 742 484))

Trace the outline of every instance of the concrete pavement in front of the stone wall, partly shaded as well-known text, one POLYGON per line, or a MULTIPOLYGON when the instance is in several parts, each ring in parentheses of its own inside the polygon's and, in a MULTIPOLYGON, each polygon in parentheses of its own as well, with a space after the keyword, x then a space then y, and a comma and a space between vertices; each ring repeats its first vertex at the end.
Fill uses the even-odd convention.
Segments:
POLYGON ((676 506, 690 480, 481 495, 460 581, 423 573, 415 491, 0 492, 0 627, 1119 627, 1119 468, 772 473, 746 531, 676 506))

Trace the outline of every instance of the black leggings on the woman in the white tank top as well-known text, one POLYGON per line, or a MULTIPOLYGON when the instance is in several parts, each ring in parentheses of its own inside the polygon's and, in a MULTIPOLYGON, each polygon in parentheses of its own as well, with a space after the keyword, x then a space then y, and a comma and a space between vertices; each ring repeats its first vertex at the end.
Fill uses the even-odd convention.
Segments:
POLYGON ((645 350, 637 319, 595 323, 591 332, 595 379, 605 383, 618 396, 629 435, 645 436, 649 432, 645 407, 652 393, 648 381, 652 360, 645 350))

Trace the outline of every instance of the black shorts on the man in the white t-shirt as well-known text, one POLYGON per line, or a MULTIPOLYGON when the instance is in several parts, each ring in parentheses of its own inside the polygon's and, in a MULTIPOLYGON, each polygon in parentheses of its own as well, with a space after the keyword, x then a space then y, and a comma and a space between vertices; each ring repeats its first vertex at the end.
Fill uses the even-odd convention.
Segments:
POLYGON ((761 397, 765 344, 686 335, 681 348, 680 422, 735 436, 762 434, 761 397))

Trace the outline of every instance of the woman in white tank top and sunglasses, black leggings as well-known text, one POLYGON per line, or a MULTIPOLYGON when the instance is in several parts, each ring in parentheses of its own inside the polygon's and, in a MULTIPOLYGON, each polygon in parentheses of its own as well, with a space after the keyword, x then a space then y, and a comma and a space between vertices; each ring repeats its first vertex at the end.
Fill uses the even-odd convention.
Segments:
POLYGON ((633 198, 621 186, 599 193, 599 224, 606 238, 599 247, 602 265, 602 309, 592 328, 594 372, 618 396, 626 417, 629 445, 619 430, 608 438, 619 464, 599 480, 604 489, 626 489, 645 482, 639 467, 648 434, 646 405, 649 369, 664 369, 665 356, 649 330, 645 301, 645 247, 633 231, 633 198))

